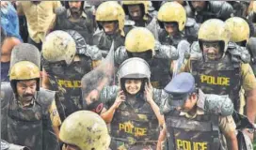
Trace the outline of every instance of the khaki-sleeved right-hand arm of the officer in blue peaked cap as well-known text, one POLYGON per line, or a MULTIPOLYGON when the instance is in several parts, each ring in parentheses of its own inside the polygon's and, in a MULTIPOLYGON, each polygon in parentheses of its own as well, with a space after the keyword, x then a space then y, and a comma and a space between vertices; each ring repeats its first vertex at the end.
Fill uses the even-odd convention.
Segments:
POLYGON ((219 118, 219 127, 226 138, 228 150, 238 150, 238 143, 235 134, 236 127, 232 119, 232 115, 221 116, 219 118))

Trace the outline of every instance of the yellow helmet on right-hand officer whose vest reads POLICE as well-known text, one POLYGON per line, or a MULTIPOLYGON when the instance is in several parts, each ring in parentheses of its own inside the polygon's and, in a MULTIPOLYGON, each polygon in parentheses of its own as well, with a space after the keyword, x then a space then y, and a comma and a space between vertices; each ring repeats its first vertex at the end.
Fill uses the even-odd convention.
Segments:
POLYGON ((210 19, 200 25, 199 41, 222 41, 223 54, 227 51, 230 37, 231 33, 228 26, 221 20, 210 19))

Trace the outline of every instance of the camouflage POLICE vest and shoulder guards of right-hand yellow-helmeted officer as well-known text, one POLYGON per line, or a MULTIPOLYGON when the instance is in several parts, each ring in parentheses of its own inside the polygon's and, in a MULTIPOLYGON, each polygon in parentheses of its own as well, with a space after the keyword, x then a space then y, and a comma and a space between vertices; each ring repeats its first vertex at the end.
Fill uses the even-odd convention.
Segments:
MULTIPOLYGON (((191 53, 200 53, 199 44, 191 47, 191 53)), ((233 61, 232 51, 242 51, 238 46, 230 47, 227 54, 217 62, 204 62, 202 57, 191 59, 192 74, 195 77, 196 85, 205 94, 229 95, 232 99, 234 110, 239 109, 241 88, 241 59, 233 61)), ((194 54, 191 54, 192 57, 194 54)))

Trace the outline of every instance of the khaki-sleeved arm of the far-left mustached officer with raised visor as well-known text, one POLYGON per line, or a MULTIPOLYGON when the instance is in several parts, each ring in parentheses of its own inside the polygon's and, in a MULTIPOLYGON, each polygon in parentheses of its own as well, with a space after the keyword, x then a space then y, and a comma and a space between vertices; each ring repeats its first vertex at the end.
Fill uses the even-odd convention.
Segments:
POLYGON ((53 129, 56 133, 57 139, 59 139, 59 127, 61 125, 61 119, 56 109, 56 99, 53 100, 49 108, 50 118, 52 121, 53 129))

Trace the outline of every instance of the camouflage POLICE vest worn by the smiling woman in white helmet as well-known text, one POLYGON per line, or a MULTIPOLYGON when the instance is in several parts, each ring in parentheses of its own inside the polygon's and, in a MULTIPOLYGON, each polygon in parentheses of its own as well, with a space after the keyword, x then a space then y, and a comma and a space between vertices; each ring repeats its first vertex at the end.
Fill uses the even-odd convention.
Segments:
POLYGON ((116 110, 111 122, 111 136, 114 140, 131 146, 157 142, 158 120, 152 112, 151 105, 142 100, 136 100, 136 104, 126 101, 116 110))

